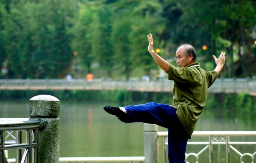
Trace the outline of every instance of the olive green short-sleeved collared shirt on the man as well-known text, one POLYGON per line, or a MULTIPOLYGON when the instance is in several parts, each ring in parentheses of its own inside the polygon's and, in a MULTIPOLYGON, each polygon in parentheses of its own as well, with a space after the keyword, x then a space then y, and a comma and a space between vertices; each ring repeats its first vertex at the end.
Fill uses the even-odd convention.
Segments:
POLYGON ((217 77, 217 71, 203 70, 199 63, 180 68, 170 66, 168 79, 174 81, 171 106, 177 109, 179 121, 190 136, 205 108, 207 89, 217 77))

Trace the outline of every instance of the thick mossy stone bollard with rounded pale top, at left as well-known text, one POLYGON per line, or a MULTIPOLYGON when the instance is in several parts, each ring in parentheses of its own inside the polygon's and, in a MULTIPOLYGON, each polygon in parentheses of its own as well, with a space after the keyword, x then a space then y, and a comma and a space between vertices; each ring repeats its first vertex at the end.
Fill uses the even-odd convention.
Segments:
POLYGON ((31 119, 42 119, 46 125, 38 131, 38 163, 59 163, 60 100, 50 95, 38 95, 29 100, 31 119))

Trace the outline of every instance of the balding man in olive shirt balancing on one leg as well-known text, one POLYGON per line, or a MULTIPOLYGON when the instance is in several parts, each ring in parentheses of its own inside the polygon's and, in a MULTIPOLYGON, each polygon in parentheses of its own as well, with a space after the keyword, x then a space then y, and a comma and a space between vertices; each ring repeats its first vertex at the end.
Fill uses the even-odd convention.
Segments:
POLYGON ((206 104, 207 89, 213 84, 225 64, 225 53, 213 58, 216 68, 206 71, 196 63, 195 48, 181 45, 176 51, 175 67, 154 52, 153 37, 149 40, 148 51, 155 62, 174 81, 173 104, 147 103, 126 107, 104 106, 104 110, 115 115, 122 122, 153 123, 168 129, 168 158, 170 163, 184 163, 186 144, 195 129, 196 122, 202 115, 206 104))

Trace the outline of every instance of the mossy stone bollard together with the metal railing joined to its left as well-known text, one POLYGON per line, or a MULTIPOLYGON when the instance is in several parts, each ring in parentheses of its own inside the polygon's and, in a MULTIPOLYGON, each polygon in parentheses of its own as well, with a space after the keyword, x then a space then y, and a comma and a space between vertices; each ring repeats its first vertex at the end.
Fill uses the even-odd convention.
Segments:
POLYGON ((0 119, 0 163, 58 163, 59 109, 56 97, 39 95, 29 100, 31 118, 0 119), (6 159, 5 150, 11 149, 15 158, 6 159))

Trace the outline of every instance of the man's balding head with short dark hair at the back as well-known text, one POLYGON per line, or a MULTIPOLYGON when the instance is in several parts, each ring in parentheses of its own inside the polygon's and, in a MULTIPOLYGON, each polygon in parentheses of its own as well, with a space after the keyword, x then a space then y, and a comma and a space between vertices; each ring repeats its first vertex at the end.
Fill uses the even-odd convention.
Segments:
POLYGON ((196 62, 196 51, 192 45, 182 44, 176 51, 176 63, 178 67, 186 67, 196 62))

